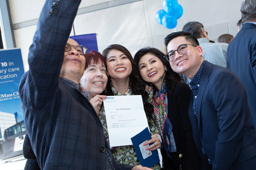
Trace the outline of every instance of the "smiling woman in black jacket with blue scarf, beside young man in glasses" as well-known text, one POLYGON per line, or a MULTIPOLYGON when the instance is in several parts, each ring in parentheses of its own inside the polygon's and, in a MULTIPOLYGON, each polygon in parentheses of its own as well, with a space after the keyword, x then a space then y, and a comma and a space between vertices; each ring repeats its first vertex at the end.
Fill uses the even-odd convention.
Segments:
POLYGON ((134 60, 142 79, 153 86, 153 119, 162 132, 164 170, 199 170, 199 155, 188 116, 191 89, 180 83, 179 75, 158 49, 140 49, 134 60))

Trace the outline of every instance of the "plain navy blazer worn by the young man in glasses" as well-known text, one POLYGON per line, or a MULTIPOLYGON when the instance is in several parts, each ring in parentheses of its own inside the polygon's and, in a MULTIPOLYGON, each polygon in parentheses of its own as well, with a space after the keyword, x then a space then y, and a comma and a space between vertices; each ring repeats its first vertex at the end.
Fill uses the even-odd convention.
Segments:
POLYGON ((198 119, 193 111, 193 98, 189 118, 204 169, 253 170, 246 161, 256 159, 256 132, 242 82, 229 69, 205 61, 197 99, 198 119), (202 146, 212 167, 201 152, 202 146))

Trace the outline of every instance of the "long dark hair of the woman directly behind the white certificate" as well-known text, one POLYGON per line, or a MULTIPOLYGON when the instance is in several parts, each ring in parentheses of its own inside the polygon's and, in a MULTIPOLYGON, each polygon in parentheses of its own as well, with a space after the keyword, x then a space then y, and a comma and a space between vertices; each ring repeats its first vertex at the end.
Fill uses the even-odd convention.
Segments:
MULTIPOLYGON (((102 52, 102 56, 107 60, 107 55, 109 53, 109 51, 111 50, 118 50, 118 51, 122 51, 127 57, 128 59, 131 61, 132 63, 132 72, 129 76, 129 85, 132 88, 132 91, 135 95, 141 95, 142 96, 142 101, 143 101, 143 105, 144 105, 144 110, 146 113, 147 118, 149 118, 148 120, 150 120, 152 118, 152 113, 154 113, 154 107, 153 105, 151 105, 148 102, 148 93, 145 91, 145 83, 144 81, 141 79, 141 77, 139 76, 139 71, 138 71, 138 67, 136 65, 136 63, 133 60, 133 57, 131 55, 131 53, 123 46, 118 45, 118 44, 112 44, 110 46, 108 46, 103 52, 102 52)), ((111 85, 110 85, 110 76, 108 77, 108 83, 107 83, 107 92, 106 95, 110 95, 113 96, 113 91, 111 89, 111 85)))

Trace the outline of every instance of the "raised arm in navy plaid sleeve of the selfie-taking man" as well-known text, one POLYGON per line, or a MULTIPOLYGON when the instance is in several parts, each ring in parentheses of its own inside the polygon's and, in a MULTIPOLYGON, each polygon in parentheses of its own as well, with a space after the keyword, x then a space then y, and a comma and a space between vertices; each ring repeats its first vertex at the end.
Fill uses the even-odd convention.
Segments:
POLYGON ((29 71, 20 82, 20 98, 33 109, 41 108, 55 93, 64 48, 80 0, 46 0, 29 48, 29 71), (25 95, 23 95, 25 94, 25 95))

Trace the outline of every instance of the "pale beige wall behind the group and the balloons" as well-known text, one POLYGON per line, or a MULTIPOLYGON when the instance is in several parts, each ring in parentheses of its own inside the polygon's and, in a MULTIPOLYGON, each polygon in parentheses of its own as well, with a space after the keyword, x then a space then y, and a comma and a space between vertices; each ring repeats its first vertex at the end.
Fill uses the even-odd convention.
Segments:
MULTIPOLYGON (((102 52, 110 44, 125 46, 132 55, 140 48, 151 46, 162 50, 163 38, 175 30, 158 24, 155 14, 162 9, 162 0, 133 0, 135 2, 109 7, 107 3, 131 0, 82 0, 80 13, 75 21, 76 34, 97 33, 98 49, 102 52), (97 10, 100 7, 101 10, 97 10), (83 9, 93 12, 83 13, 83 9), (96 11, 95 11, 96 9, 96 11)), ((236 35, 242 0, 178 0, 183 16, 177 20, 176 31, 181 31, 189 21, 201 22, 211 40, 221 34, 236 35)), ((28 24, 39 18, 43 0, 9 0, 12 22, 27 24, 14 30, 16 45, 21 48, 25 71, 28 70, 27 54, 36 25, 28 24)), ((71 33, 73 35, 73 32, 71 33)))

